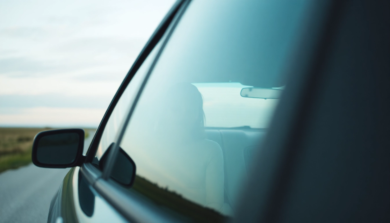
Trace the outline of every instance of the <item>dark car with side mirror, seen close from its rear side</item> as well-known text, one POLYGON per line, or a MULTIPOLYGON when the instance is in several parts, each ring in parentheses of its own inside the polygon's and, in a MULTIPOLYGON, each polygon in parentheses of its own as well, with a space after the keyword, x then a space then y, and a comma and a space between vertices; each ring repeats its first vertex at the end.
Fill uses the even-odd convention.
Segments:
POLYGON ((48 222, 390 222, 388 1, 179 0, 84 131, 48 222))

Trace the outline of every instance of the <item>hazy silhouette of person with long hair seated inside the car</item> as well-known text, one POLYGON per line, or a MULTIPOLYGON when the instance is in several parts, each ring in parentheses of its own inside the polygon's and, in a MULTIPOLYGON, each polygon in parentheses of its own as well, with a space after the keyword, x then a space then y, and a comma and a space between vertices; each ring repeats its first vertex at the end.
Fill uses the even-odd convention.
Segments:
POLYGON ((220 145, 206 139, 203 98, 190 83, 176 84, 160 100, 156 146, 169 188, 206 207, 223 211, 224 169, 220 145))

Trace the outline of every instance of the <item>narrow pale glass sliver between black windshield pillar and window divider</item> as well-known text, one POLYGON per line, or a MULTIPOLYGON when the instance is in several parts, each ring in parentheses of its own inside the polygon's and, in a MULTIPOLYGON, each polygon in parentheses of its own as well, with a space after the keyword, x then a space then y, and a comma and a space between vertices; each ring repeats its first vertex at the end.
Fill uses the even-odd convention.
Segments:
POLYGON ((161 47, 161 41, 154 47, 152 52, 148 55, 145 61, 142 63, 137 73, 131 79, 130 83, 124 90, 121 98, 119 98, 115 108, 112 111, 110 118, 107 121, 106 127, 101 136, 99 145, 96 151, 96 159, 100 160, 108 147, 113 143, 114 138, 121 126, 124 116, 127 114, 129 106, 133 102, 135 96, 138 93, 139 87, 145 78, 145 75, 155 58, 158 49, 161 47))

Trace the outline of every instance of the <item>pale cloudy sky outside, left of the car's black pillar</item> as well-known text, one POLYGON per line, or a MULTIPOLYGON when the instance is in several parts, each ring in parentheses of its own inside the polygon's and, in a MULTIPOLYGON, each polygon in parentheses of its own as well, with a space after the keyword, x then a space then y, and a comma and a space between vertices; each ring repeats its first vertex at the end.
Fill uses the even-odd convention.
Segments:
POLYGON ((97 127, 175 0, 0 0, 0 126, 97 127))

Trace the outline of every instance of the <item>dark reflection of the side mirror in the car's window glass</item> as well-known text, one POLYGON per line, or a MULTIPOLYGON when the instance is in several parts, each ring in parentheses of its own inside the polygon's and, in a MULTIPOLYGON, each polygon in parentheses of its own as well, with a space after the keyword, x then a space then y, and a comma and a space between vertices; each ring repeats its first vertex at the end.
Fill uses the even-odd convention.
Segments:
MULTIPOLYGON (((108 154, 113 147, 114 143, 110 145, 108 150, 104 153, 99 161, 99 168, 103 171, 107 164, 108 154)), ((133 159, 127 155, 122 148, 119 147, 119 152, 117 154, 117 158, 112 167, 111 178, 115 180, 117 183, 121 184, 124 187, 133 186, 133 182, 135 179, 135 163, 133 159)))

